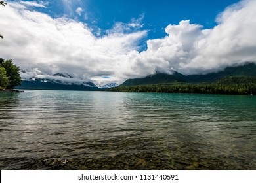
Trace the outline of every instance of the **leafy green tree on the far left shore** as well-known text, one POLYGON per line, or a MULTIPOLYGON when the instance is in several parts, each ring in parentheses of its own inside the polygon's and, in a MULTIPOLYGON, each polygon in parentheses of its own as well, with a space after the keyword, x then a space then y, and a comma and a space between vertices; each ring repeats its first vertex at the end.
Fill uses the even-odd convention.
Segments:
POLYGON ((5 76, 8 78, 8 84, 0 84, 1 88, 13 89, 15 86, 19 86, 22 82, 20 77, 20 68, 12 63, 12 59, 0 59, 0 67, 3 67, 1 80, 5 80, 5 76), (6 73, 6 74, 5 74, 6 73))

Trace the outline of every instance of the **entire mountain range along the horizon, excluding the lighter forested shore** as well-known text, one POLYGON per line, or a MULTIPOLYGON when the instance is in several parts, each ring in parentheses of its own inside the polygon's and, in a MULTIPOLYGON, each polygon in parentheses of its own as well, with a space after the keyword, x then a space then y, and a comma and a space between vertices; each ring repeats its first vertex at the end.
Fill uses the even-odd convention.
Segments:
MULTIPOLYGON (((22 71, 25 72, 25 71, 22 71)), ((256 64, 245 63, 244 65, 234 65, 226 67, 223 71, 208 73, 206 75, 182 75, 177 71, 173 71, 173 75, 165 73, 156 73, 146 76, 145 78, 128 79, 123 84, 117 86, 115 83, 106 84, 104 86, 96 86, 93 82, 85 82, 84 80, 75 79, 68 73, 56 73, 54 75, 38 75, 22 81, 22 85, 18 89, 33 90, 104 90, 107 88, 116 88, 122 86, 141 86, 152 84, 200 84, 200 83, 226 83, 230 82, 255 82, 256 64)))

